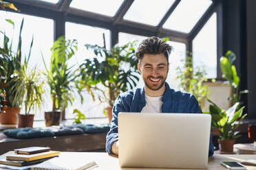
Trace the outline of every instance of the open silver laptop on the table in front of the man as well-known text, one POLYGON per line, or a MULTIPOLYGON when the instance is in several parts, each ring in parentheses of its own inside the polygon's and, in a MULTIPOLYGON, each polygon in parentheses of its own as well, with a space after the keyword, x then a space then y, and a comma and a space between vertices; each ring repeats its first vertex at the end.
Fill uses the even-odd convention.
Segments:
POLYGON ((120 167, 205 169, 210 114, 118 114, 120 167))

